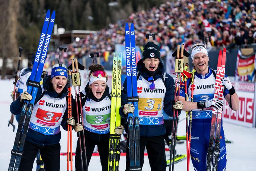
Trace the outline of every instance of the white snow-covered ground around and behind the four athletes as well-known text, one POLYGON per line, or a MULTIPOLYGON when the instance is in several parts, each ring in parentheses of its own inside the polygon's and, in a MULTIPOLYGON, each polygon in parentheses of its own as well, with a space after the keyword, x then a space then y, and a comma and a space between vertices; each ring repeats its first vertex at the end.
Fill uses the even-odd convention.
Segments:
MULTIPOLYGON (((13 142, 15 139, 15 132, 12 132, 11 127, 7 127, 8 120, 10 119, 9 106, 12 102, 10 94, 13 90, 13 80, 0 80, 0 170, 7 170, 10 161, 10 152, 13 147, 13 142)), ((180 120, 185 117, 185 114, 181 114, 180 120)), ((17 122, 15 120, 14 124, 17 127, 17 122)), ((185 120, 179 123, 178 135, 185 135, 185 120)), ((255 171, 256 167, 256 129, 255 128, 245 128, 237 125, 232 125, 230 123, 223 123, 225 138, 233 141, 234 143, 227 144, 227 171, 255 171)), ((67 152, 67 132, 61 130, 61 152, 67 152)), ((77 136, 73 133, 73 152, 76 149, 77 136)), ((176 145, 177 154, 186 154, 186 145, 177 144, 176 145)), ((169 158, 168 153, 166 158, 169 158)), ((74 157, 73 157, 74 160, 74 157)), ((150 170, 150 165, 148 163, 148 158, 144 157, 143 171, 150 170)), ((66 156, 61 156, 61 171, 67 169, 66 156)), ((73 164, 74 165, 74 164, 73 164)), ((34 164, 35 166, 35 164, 34 164)), ((193 170, 192 162, 190 164, 190 170, 193 170)), ((34 167, 35 168, 35 167, 34 167)), ((125 156, 120 159, 120 171, 125 170, 125 156)), ((34 169, 35 170, 35 169, 34 169)), ((74 169, 73 169, 74 170, 74 169)), ((93 156, 89 164, 89 171, 100 171, 100 159, 98 156, 93 156)), ((167 167, 166 170, 169 170, 167 167)), ((186 160, 175 164, 175 171, 185 171, 186 170, 186 160)))

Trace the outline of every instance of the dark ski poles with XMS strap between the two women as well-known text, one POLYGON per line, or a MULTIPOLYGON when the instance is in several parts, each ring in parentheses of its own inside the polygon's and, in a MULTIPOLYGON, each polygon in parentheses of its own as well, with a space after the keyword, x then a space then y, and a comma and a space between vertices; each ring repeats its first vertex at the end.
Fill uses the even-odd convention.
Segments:
MULTIPOLYGON (((75 89, 75 94, 76 94, 76 114, 77 114, 77 122, 80 123, 80 117, 83 117, 83 116, 80 116, 79 114, 79 111, 78 111, 78 102, 77 102, 77 86, 80 86, 81 85, 81 82, 80 82, 80 74, 78 72, 78 70, 75 70, 75 64, 74 64, 74 59, 71 59, 71 62, 72 62, 72 85, 74 86, 74 89, 75 89)), ((82 112, 82 111, 81 111, 82 112)), ((84 132, 84 130, 82 130, 84 132)), ((80 131, 77 132, 78 133, 78 141, 79 141, 79 150, 80 150, 80 160, 81 160, 81 170, 83 171, 84 170, 84 167, 83 167, 83 151, 82 151, 82 143, 81 143, 81 133, 80 131)), ((86 161, 86 166, 87 166, 87 161, 86 161)), ((86 171, 87 171, 87 167, 86 167, 86 171)))

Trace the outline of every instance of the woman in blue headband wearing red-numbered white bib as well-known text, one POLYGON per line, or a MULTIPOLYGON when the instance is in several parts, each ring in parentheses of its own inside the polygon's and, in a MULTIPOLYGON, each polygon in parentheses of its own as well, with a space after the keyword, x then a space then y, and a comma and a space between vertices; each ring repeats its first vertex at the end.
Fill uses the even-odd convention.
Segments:
MULTIPOLYGON (((41 88, 36 94, 28 134, 19 170, 32 171, 38 149, 46 171, 60 170, 60 125, 67 130, 67 122, 74 125, 74 119, 67 117, 67 67, 56 64, 51 75, 44 78, 41 88)), ((27 91, 13 101, 10 111, 20 114, 22 102, 31 100, 27 91)))

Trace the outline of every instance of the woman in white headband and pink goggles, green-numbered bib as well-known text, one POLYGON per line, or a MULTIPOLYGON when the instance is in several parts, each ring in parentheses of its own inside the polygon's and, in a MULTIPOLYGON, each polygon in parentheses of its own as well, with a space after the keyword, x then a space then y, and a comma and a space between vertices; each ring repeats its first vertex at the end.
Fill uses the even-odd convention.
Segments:
MULTIPOLYGON (((108 76, 102 65, 91 65, 89 70, 89 83, 80 93, 84 125, 76 123, 75 130, 84 130, 87 164, 89 165, 93 150, 95 145, 97 145, 102 171, 108 171, 111 111, 111 95, 109 94, 109 87, 106 84, 108 76)), ((122 125, 115 128, 115 132, 119 135, 123 131, 124 127, 122 125)), ((77 141, 76 171, 81 170, 80 156, 79 142, 77 141)), ((85 164, 83 166, 85 170, 85 164)))

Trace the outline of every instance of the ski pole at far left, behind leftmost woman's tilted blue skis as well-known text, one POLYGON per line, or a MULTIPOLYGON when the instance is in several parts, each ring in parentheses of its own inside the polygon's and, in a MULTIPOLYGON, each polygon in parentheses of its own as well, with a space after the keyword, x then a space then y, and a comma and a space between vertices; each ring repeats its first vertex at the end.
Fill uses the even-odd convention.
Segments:
MULTIPOLYGON (((13 101, 15 101, 17 99, 17 91, 19 89, 18 85, 20 83, 19 77, 20 77, 20 60, 21 60, 22 49, 23 48, 19 46, 19 61, 18 61, 17 71, 15 72, 15 81, 13 82, 13 84, 14 84, 13 93, 12 93, 12 96, 13 96, 12 100, 13 101), (17 86, 16 86, 16 84, 17 84, 17 86)), ((14 114, 12 114, 10 120, 8 121, 8 126, 12 125, 13 132, 14 132, 15 125, 13 124, 13 119, 14 119, 14 114)))

